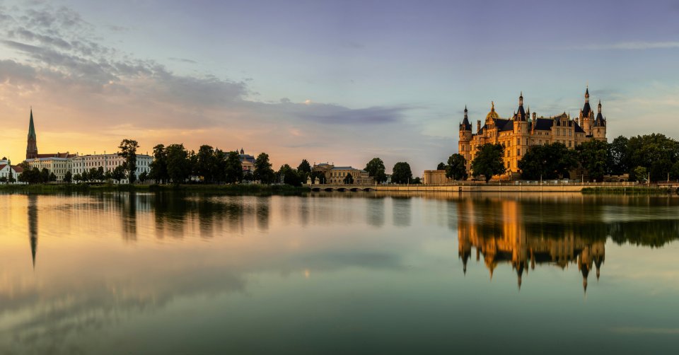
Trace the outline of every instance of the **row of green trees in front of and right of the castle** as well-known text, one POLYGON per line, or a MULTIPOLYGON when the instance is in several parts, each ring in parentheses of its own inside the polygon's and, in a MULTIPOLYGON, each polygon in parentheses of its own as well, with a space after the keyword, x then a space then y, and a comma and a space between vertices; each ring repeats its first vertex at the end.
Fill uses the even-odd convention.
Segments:
MULTIPOLYGON (((501 144, 480 146, 471 162, 472 177, 484 176, 488 182, 495 175, 506 173, 504 147, 501 144)), ((446 177, 466 180, 467 161, 459 153, 439 163, 446 177)), ((661 181, 679 179, 679 142, 663 134, 618 136, 609 144, 592 139, 568 149, 564 144, 552 143, 531 146, 518 161, 523 180, 578 179, 603 181, 606 175, 625 175, 629 181, 661 181), (577 176, 571 176, 573 172, 577 176)))

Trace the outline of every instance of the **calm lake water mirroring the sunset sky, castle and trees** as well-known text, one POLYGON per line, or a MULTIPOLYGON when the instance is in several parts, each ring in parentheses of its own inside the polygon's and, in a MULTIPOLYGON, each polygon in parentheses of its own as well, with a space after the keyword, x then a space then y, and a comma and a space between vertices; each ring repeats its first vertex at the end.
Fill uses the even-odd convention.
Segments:
POLYGON ((673 353, 679 199, 0 195, 0 354, 673 353))

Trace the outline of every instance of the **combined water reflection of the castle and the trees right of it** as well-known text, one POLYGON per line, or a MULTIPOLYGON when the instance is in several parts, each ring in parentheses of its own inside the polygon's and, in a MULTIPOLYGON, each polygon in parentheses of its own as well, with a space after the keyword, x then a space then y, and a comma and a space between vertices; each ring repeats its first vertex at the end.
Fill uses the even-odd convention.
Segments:
POLYGON ((463 272, 467 272, 474 248, 477 262, 483 257, 490 279, 499 264, 507 264, 516 272, 520 289, 523 277, 536 265, 565 269, 574 264, 586 291, 589 274, 595 270, 596 279, 600 277, 608 237, 619 245, 651 247, 679 238, 679 221, 674 219, 676 199, 668 200, 671 208, 666 210, 651 210, 649 204, 622 199, 631 207, 622 211, 614 206, 611 211, 610 205, 594 198, 555 198, 556 203, 550 198, 456 199, 454 224, 463 272), (606 222, 611 212, 616 221, 606 222))

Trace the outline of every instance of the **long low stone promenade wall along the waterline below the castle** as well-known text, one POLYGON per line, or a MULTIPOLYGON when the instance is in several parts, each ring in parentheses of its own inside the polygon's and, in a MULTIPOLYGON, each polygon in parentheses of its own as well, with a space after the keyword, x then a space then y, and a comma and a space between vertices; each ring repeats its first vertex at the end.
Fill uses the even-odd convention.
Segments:
POLYGON ((637 187, 637 182, 459 182, 410 185, 308 185, 314 191, 384 192, 581 192, 585 187, 637 187))

